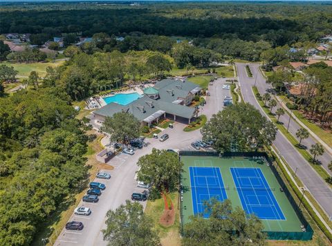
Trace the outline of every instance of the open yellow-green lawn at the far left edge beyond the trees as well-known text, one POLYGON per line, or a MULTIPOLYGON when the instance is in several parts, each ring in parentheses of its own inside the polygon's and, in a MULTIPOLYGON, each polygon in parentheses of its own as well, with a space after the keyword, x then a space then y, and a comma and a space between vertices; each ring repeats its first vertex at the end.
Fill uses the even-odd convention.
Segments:
POLYGON ((32 71, 38 72, 40 77, 46 75, 46 68, 48 66, 56 67, 64 64, 64 61, 55 62, 34 62, 34 63, 10 63, 8 61, 1 62, 0 65, 7 65, 14 67, 17 70, 19 77, 28 77, 32 71))

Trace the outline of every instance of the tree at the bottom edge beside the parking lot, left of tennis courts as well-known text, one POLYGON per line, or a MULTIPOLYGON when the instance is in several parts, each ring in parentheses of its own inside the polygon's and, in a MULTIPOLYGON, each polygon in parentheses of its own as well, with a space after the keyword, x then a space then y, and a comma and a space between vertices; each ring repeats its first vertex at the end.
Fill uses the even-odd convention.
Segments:
POLYGON ((154 231, 152 219, 144 214, 138 202, 126 200, 115 211, 107 211, 107 228, 102 230, 107 245, 160 245, 160 238, 154 231))

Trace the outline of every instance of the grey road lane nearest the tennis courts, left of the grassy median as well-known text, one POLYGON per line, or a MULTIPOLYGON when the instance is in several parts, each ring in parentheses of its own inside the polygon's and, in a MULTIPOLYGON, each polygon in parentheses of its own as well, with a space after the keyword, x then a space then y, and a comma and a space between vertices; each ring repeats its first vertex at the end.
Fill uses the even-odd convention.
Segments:
MULTIPOLYGON (((250 64, 254 78, 249 78, 246 74, 246 64, 238 63, 236 66, 243 99, 255 106, 255 108, 257 108, 261 114, 264 115, 264 111, 261 109, 252 94, 252 86, 255 84, 255 75, 257 73, 258 65, 250 64)), ((260 73, 257 73, 257 75, 256 86, 259 88, 260 93, 264 93, 266 90, 265 79, 260 75, 260 73)), ((296 175, 300 180, 302 180, 306 189, 308 189, 317 202, 320 203, 326 213, 329 214, 329 216, 332 216, 332 189, 324 180, 322 180, 320 176, 318 176, 311 165, 296 151, 284 135, 279 133, 279 131, 273 144, 279 153, 284 157, 291 169, 293 169, 293 171, 296 170, 296 175)))

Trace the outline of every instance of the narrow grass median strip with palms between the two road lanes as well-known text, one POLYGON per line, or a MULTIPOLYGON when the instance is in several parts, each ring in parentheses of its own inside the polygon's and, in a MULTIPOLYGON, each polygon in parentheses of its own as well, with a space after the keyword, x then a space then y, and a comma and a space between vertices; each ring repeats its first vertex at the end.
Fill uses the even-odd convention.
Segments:
MULTIPOLYGON (((277 129, 287 138, 287 140, 289 142, 291 142, 291 144, 295 147, 295 149, 302 155, 302 157, 308 161, 309 164, 311 164, 311 167, 313 167, 313 169, 315 169, 315 171, 317 172, 317 174, 326 181, 326 179, 328 179, 330 177, 329 173, 327 173, 327 171, 320 165, 320 164, 314 164, 312 162, 312 156, 310 153, 308 153, 308 151, 306 151, 306 149, 302 149, 299 146, 299 142, 297 141, 296 138, 294 138, 294 136, 289 133, 287 131, 287 129, 285 128, 284 125, 279 124, 279 122, 277 122, 276 117, 270 113, 270 109, 267 108, 266 106, 264 106, 264 102, 263 100, 260 100, 259 98, 257 98, 257 93, 259 93, 257 87, 253 86, 252 87, 252 91, 257 99, 257 102, 259 102, 259 105, 261 106, 261 108, 264 110, 264 112, 268 115, 268 117, 270 118, 270 120, 272 120, 272 122, 275 124, 275 126, 277 126, 277 129)), ((327 182, 326 182, 327 183, 327 182)), ((327 183, 330 187, 332 187, 331 184, 327 183)))

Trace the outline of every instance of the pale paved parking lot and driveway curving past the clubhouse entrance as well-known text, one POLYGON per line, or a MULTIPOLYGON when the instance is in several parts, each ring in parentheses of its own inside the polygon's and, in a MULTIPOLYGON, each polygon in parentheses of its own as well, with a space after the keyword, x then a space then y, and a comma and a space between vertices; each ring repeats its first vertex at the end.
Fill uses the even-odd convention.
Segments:
MULTIPOLYGON (((210 118, 213 113, 221 111, 223 109, 223 97, 230 95, 229 90, 222 89, 225 79, 218 79, 210 86, 209 91, 211 95, 207 97, 207 104, 200 108, 200 113, 207 115, 210 118)), ((93 122, 92 122, 93 123, 93 122)), ((95 127, 99 127, 98 124, 93 124, 95 127)), ((116 209, 121 204, 124 204, 125 200, 131 198, 131 193, 143 191, 136 187, 136 180, 134 180, 138 167, 136 162, 138 158, 147 153, 151 153, 152 148, 156 149, 181 149, 181 150, 194 150, 190 144, 194 140, 201 139, 201 133, 199 130, 192 132, 183 131, 184 124, 174 123, 174 129, 165 129, 162 133, 159 133, 159 137, 164 134, 169 134, 169 139, 165 142, 160 142, 156 139, 147 139, 149 145, 138 149, 134 155, 127 155, 121 153, 115 158, 111 159, 108 164, 115 167, 111 171, 110 180, 95 179, 97 182, 104 183, 107 188, 102 191, 100 200, 97 203, 80 202, 79 206, 89 207, 92 211, 90 216, 76 216, 73 214, 69 221, 80 221, 84 224, 82 231, 68 231, 62 229, 55 242, 55 245, 86 245, 86 246, 99 246, 107 245, 102 238, 101 230, 105 228, 105 216, 109 209, 116 209)), ((145 206, 146 202, 142 202, 145 206)))

